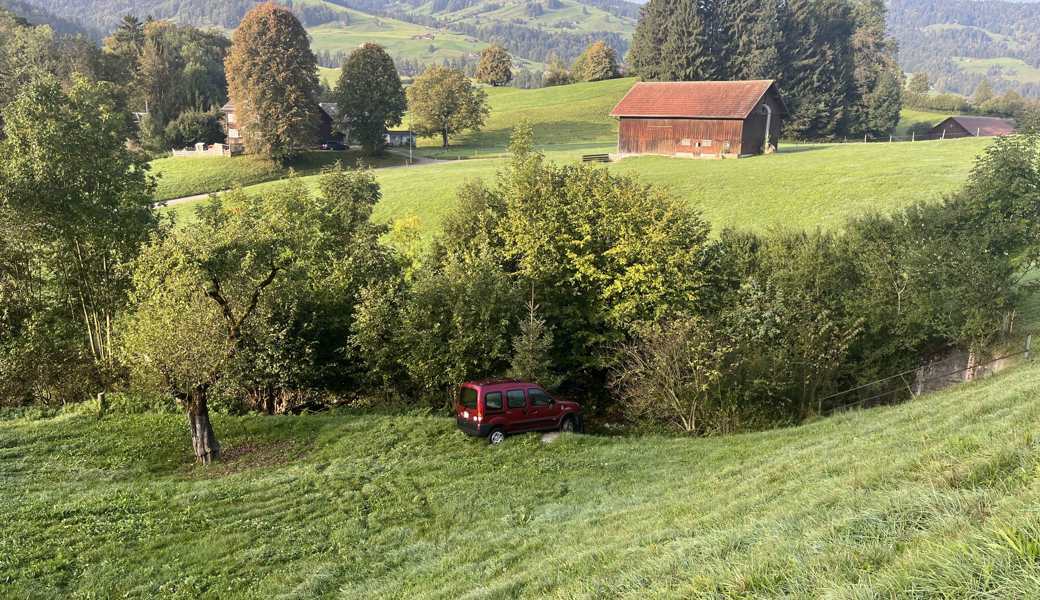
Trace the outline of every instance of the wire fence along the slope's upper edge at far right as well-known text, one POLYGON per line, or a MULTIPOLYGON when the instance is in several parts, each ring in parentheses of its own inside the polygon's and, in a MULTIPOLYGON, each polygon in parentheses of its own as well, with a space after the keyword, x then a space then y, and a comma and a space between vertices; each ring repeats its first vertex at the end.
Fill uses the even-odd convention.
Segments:
POLYGON ((1024 345, 1020 349, 981 362, 972 360, 970 354, 958 355, 954 353, 942 360, 933 361, 915 369, 824 396, 818 399, 821 412, 829 416, 852 409, 901 403, 954 384, 982 379, 999 371, 1012 359, 1021 357, 1023 360, 1030 360, 1032 345, 1033 336, 1028 335, 1024 338, 1024 345), (966 366, 951 367, 951 365, 959 363, 965 363, 966 366), (843 399, 844 401, 841 401, 843 399))

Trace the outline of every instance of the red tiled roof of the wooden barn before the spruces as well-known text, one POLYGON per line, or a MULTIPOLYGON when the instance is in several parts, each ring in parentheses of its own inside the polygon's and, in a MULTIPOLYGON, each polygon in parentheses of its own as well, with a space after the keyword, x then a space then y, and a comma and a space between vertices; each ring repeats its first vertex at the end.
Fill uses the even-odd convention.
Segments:
MULTIPOLYGON (((772 89, 772 79, 758 81, 640 82, 610 111, 612 116, 747 119, 772 89)), ((783 101, 780 101, 781 106, 783 101)))

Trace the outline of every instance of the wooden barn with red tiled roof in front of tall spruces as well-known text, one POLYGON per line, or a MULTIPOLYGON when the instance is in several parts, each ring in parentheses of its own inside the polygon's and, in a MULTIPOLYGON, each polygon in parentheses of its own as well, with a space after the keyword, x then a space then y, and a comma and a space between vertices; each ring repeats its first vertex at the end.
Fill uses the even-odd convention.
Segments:
POLYGON ((774 152, 786 114, 772 79, 641 82, 610 111, 619 155, 692 158, 774 152))

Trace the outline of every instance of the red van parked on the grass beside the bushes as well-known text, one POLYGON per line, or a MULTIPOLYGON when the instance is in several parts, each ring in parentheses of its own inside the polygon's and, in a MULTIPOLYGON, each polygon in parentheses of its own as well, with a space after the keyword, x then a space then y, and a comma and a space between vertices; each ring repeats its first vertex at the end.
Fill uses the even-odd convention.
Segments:
POLYGON ((521 432, 580 432, 581 406, 553 399, 528 382, 470 382, 459 389, 456 423, 470 436, 498 444, 521 432))

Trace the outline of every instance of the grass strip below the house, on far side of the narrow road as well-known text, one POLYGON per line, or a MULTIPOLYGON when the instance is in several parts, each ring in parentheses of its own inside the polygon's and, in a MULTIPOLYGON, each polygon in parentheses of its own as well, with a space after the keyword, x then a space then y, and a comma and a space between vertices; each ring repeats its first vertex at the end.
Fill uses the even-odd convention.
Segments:
POLYGON ((184 158, 170 157, 152 161, 152 174, 158 177, 156 200, 184 198, 197 193, 222 191, 235 185, 254 185, 288 177, 289 169, 301 175, 314 175, 327 166, 342 162, 353 166, 358 160, 373 166, 401 164, 397 155, 380 158, 362 157, 359 152, 308 152, 289 167, 256 156, 184 158))

